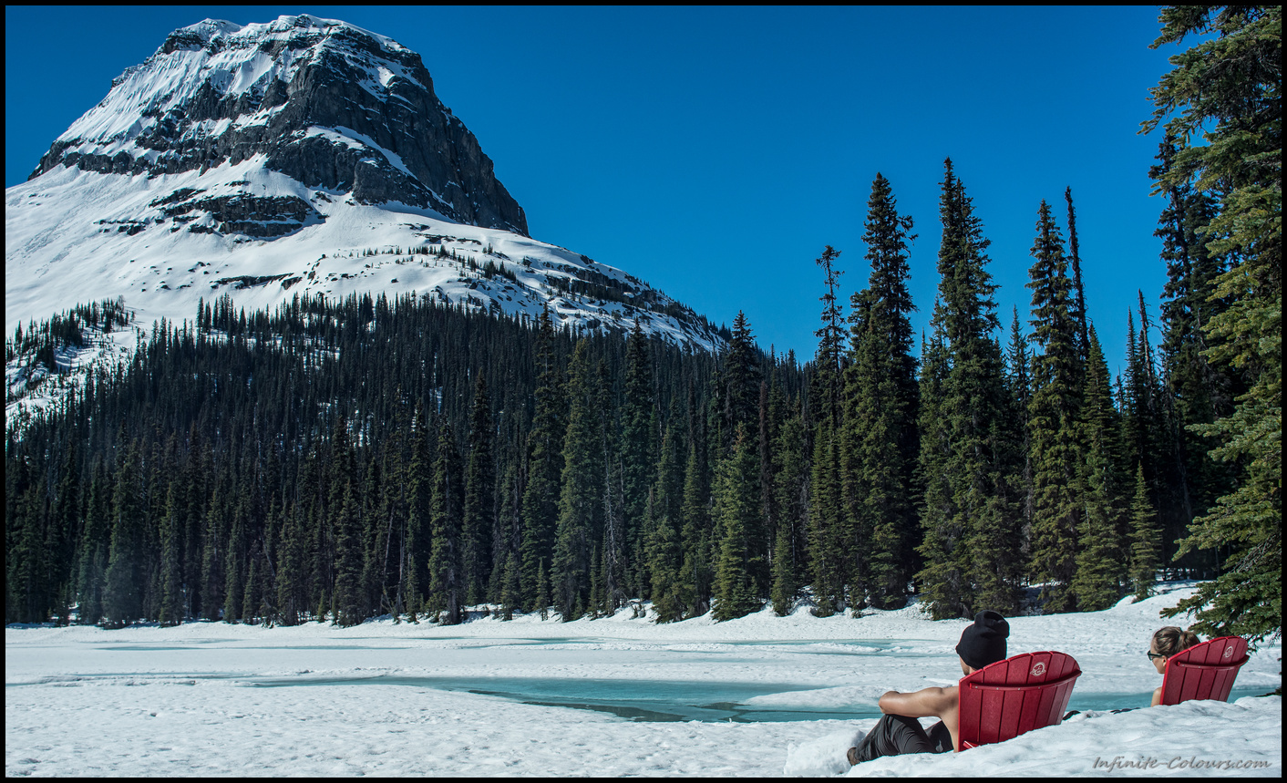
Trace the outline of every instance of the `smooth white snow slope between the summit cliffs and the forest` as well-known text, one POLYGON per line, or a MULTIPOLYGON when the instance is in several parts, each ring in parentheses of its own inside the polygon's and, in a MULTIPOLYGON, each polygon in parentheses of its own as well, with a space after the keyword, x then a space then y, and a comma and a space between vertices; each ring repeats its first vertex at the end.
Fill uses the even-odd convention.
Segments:
MULTIPOLYGON (((351 140, 340 133, 346 129, 317 130, 326 130, 336 144, 351 140)), ((595 328, 597 323, 628 331, 638 321, 646 334, 668 341, 718 348, 718 339, 700 327, 650 310, 642 301, 629 308, 619 301, 568 296, 552 286, 552 281, 566 285, 592 272, 616 281, 632 296, 649 291, 619 269, 587 264, 573 251, 520 234, 453 223, 432 210, 356 203, 342 193, 304 187, 263 164, 263 156, 255 156, 206 171, 152 178, 63 167, 8 188, 6 331, 77 304, 117 296, 136 312, 139 323, 147 325, 160 318, 190 321, 198 300, 211 301, 223 294, 250 312, 275 308, 296 295, 344 299, 416 292, 529 319, 548 308, 556 326, 595 328), (193 233, 193 228, 215 228, 208 216, 181 225, 158 220, 158 200, 185 189, 199 189, 202 198, 246 192, 257 198, 299 198, 322 220, 310 218, 300 231, 272 241, 193 233), (413 254, 426 246, 458 260, 413 254), (394 249, 403 252, 391 254, 394 249), (368 251, 376 255, 367 256, 368 251), (470 269, 468 261, 479 270, 470 269), (517 282, 499 276, 485 279, 480 270, 486 261, 515 274, 517 282), (274 279, 245 286, 242 278, 274 279)), ((669 301, 663 294, 653 295, 662 304, 669 301)))

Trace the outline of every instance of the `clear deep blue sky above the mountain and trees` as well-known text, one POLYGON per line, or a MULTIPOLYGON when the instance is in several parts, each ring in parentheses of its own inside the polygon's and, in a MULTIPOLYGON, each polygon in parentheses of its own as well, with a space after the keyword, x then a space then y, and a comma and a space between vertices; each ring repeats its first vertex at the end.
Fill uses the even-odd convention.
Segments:
MULTIPOLYGON (((5 185, 55 137, 202 18, 311 13, 418 52, 535 238, 624 268, 717 323, 745 310, 762 345, 803 359, 842 250, 866 285, 875 174, 916 220, 914 326, 928 330, 945 157, 992 240, 1008 332, 1024 331, 1042 198, 1072 187, 1088 309, 1113 372, 1143 290, 1156 317, 1161 202, 1136 135, 1179 49, 1157 9, 5 8, 5 185)), ((1153 335, 1156 343, 1157 335, 1153 335)))

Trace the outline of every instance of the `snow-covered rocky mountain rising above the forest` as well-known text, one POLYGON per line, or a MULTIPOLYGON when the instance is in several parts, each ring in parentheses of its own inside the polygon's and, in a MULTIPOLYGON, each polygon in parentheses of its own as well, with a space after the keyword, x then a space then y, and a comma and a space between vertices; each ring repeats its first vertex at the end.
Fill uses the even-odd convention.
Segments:
POLYGON ((171 33, 5 191, 5 325, 122 300, 143 323, 199 299, 414 292, 716 349, 691 309, 528 236, 414 52, 333 19, 171 33))

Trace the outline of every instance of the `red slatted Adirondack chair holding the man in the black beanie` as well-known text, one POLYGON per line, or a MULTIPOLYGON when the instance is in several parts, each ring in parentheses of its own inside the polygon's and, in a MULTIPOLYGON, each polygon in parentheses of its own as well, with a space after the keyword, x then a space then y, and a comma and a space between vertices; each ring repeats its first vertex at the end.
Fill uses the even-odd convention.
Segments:
POLYGON ((1072 656, 1045 652, 1014 656, 961 677, 956 750, 1058 725, 1080 676, 1072 656))

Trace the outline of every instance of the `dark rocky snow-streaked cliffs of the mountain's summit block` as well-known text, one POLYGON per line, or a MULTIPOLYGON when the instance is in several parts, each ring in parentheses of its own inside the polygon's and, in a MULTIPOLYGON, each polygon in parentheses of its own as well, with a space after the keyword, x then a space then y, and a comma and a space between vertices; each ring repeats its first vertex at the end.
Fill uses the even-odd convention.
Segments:
MULTIPOLYGON (((32 173, 57 166, 180 174, 263 157, 308 188, 358 203, 402 202, 483 228, 528 234, 477 139, 434 94, 414 52, 317 17, 172 32, 147 62, 59 137, 32 173)), ((300 198, 254 192, 179 198, 190 228, 275 237, 324 220, 300 198)), ((122 228, 124 231, 124 228, 122 228)))

